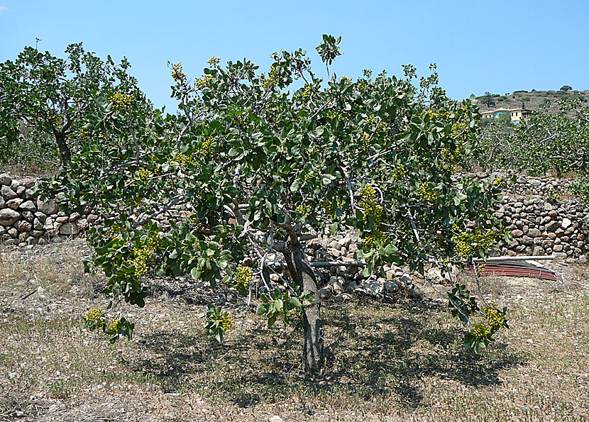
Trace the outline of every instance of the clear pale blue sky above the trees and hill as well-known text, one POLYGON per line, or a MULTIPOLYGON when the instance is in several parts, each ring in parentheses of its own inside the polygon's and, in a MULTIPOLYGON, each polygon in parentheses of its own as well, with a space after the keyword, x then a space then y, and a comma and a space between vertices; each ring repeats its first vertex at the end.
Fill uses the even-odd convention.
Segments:
POLYGON ((247 57, 260 67, 270 53, 314 50, 321 34, 341 35, 334 71, 426 74, 436 62, 441 86, 463 99, 485 91, 589 89, 589 1, 60 1, 0 0, 0 61, 25 45, 63 55, 70 43, 115 60, 156 106, 175 109, 167 61, 199 77, 212 55, 247 57))

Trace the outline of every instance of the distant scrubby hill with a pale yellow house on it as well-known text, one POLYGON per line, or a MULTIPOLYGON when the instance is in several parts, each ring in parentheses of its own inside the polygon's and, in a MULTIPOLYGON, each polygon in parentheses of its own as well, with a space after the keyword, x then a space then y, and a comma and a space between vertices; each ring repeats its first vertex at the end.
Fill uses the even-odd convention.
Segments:
POLYGON ((505 95, 491 94, 492 101, 495 105, 488 106, 487 97, 485 95, 478 96, 478 107, 480 111, 488 111, 495 109, 516 109, 519 107, 527 110, 537 110, 541 104, 549 103, 549 112, 556 113, 558 111, 558 100, 559 99, 573 99, 578 98, 581 101, 580 107, 589 106, 589 90, 585 91, 513 91, 505 95))

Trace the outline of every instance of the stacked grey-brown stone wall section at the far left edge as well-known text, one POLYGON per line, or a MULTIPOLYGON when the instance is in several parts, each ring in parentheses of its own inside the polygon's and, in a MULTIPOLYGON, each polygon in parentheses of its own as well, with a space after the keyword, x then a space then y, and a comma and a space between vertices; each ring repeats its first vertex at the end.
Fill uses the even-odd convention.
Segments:
POLYGON ((12 179, 0 174, 0 241, 6 245, 44 245, 85 231, 97 221, 86 209, 84 214, 67 216, 55 201, 40 201, 35 196, 36 181, 12 179))

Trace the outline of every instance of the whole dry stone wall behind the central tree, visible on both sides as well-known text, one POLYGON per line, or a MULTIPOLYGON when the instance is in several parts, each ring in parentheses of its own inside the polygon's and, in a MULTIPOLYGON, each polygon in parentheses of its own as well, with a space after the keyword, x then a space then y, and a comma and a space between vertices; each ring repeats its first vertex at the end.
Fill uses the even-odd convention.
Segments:
MULTIPOLYGON (((585 260, 589 252, 589 209, 567 194, 568 184, 565 179, 518 177, 507 186, 495 216, 506 219, 514 237, 502 247, 501 255, 554 253, 585 260)), ((35 179, 0 174, 0 242, 24 246, 60 241, 84 233, 97 221, 90 209, 67 216, 55 202, 36 199, 34 187, 35 179)), ((324 236, 321 243, 334 258, 351 257, 358 248, 353 240, 359 241, 349 236, 324 236)))

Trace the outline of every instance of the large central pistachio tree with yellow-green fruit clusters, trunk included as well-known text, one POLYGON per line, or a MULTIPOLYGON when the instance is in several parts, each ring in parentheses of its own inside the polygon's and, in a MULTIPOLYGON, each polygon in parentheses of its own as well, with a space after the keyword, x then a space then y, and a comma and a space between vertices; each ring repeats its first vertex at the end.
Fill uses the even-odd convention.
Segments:
MULTIPOLYGON (((339 41, 325 35, 317 48, 327 77, 302 50, 274 53, 268 72, 213 57, 194 79, 170 64, 175 116, 138 113, 133 101, 116 98, 102 105, 86 129, 87 147, 48 189, 104 216, 89 234, 87 267, 104 271, 111 303, 143 306, 149 274, 191 274, 236 289, 248 303, 261 293, 256 312, 270 325, 302 315, 304 365, 318 372, 321 280, 306 240, 356 230, 367 276, 385 262, 424 272, 428 261, 484 257, 496 244, 498 181, 453 178, 477 140, 473 103, 448 99, 434 66, 418 82, 410 65, 400 78, 338 77, 331 64, 339 41), (279 285, 268 277, 275 252, 290 274, 279 285)), ((449 298, 465 324, 473 313, 495 318, 473 327, 467 349, 485 348, 506 325, 505 310, 479 309, 463 286, 449 298)), ((207 333, 222 340, 233 319, 211 304, 207 333)), ((92 311, 85 321, 112 339, 133 330, 122 315, 108 323, 92 311)))

